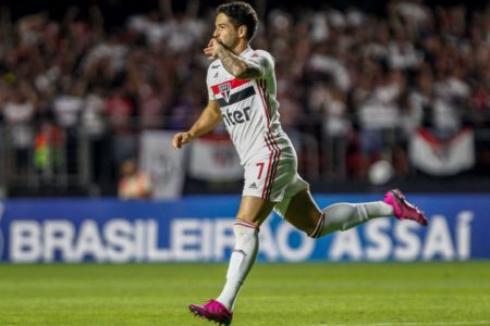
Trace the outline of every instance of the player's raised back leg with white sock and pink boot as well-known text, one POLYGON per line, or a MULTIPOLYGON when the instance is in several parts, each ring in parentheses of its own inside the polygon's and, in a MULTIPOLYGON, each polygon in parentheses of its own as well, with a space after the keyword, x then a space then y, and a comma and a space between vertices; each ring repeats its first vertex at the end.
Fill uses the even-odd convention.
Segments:
POLYGON ((400 190, 390 190, 383 201, 335 203, 320 211, 305 189, 291 198, 284 215, 286 221, 313 238, 346 230, 371 218, 390 216, 427 225, 424 213, 409 204, 400 190))

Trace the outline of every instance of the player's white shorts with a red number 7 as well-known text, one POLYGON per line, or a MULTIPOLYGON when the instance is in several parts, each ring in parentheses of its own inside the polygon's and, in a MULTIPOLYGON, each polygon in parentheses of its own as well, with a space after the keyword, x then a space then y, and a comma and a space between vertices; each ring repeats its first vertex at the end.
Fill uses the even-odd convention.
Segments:
POLYGON ((309 184, 297 174, 297 161, 280 159, 277 164, 270 158, 245 165, 243 196, 253 196, 275 202, 274 211, 284 217, 291 198, 309 184))

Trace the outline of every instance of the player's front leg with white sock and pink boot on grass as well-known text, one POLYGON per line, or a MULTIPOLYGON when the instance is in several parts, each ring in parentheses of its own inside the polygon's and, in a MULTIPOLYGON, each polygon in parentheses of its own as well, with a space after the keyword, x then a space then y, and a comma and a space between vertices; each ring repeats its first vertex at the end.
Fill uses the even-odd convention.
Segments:
POLYGON ((216 300, 204 305, 191 304, 191 311, 201 317, 229 325, 233 306, 258 252, 258 230, 274 203, 257 197, 244 196, 233 226, 235 248, 230 258, 226 283, 216 300))

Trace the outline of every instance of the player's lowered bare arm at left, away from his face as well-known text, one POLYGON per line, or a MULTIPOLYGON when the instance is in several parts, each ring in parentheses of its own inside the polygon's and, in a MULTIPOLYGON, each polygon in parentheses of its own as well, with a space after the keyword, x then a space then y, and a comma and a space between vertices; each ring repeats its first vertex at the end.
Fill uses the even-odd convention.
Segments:
POLYGON ((188 131, 177 133, 173 136, 172 146, 174 148, 182 148, 182 146, 191 142, 194 138, 203 136, 221 123, 222 116, 220 105, 216 100, 209 100, 203 113, 194 123, 188 131))

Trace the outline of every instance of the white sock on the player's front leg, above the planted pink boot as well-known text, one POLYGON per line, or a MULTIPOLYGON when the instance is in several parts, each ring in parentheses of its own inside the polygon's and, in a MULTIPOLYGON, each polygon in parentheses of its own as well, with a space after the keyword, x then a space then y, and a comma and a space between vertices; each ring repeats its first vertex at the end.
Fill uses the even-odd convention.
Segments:
POLYGON ((258 228, 252 223, 237 220, 233 227, 235 234, 235 249, 230 258, 226 283, 217 298, 228 310, 232 311, 236 297, 248 272, 254 266, 258 252, 258 228))

